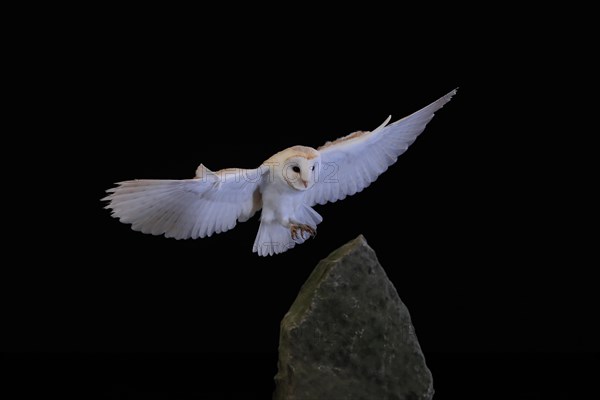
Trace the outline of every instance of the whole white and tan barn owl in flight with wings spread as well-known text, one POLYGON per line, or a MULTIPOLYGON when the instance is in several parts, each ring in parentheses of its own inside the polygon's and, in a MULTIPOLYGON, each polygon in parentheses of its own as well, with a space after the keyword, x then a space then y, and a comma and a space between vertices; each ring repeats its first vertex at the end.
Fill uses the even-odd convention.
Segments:
POLYGON ((358 131, 314 149, 293 146, 258 168, 210 171, 203 164, 183 180, 139 179, 116 183, 103 201, 133 230, 196 239, 232 229, 261 210, 252 251, 283 253, 316 234, 323 218, 316 204, 362 191, 394 164, 456 89, 390 125, 358 131))

